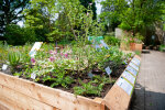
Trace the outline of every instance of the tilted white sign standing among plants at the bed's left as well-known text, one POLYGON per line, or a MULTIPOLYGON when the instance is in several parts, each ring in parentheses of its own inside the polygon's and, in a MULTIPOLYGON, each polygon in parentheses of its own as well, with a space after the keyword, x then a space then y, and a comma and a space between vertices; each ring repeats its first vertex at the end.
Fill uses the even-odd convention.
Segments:
POLYGON ((33 45, 32 50, 29 53, 31 57, 34 57, 36 55, 36 51, 40 50, 42 44, 43 44, 43 42, 35 42, 35 44, 33 45))

